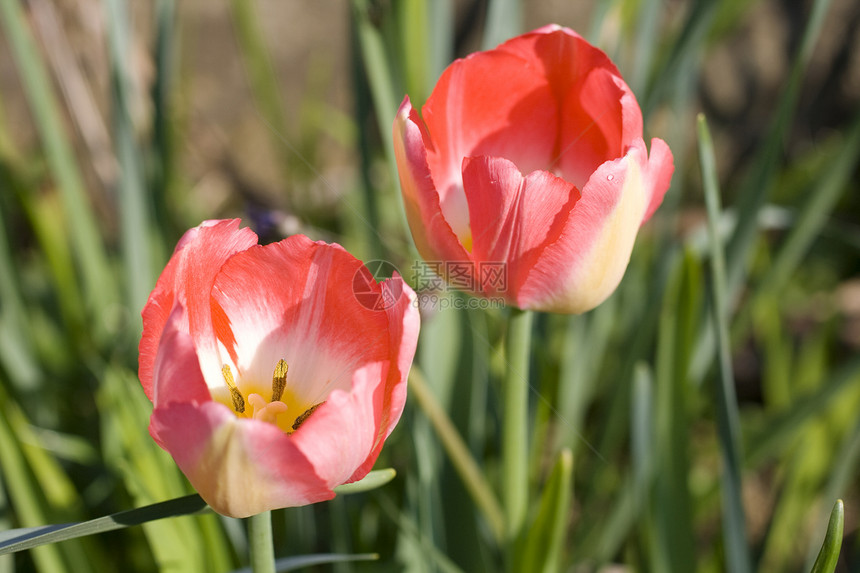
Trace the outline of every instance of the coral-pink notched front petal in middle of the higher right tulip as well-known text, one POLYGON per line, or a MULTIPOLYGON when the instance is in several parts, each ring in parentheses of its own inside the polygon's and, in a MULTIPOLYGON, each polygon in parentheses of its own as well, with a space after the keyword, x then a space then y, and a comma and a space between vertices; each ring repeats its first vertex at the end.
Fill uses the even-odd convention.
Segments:
POLYGON ((467 158, 463 182, 469 198, 473 233, 472 256, 506 265, 507 288, 484 283, 487 296, 517 303, 517 292, 543 249, 561 233, 579 199, 572 184, 546 171, 526 177, 498 157, 467 158))

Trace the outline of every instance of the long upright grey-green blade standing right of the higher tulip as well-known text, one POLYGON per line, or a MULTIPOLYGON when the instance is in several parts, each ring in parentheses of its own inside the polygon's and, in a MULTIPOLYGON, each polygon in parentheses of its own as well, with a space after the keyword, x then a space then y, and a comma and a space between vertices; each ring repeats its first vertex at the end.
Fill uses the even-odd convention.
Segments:
POLYGON ((720 192, 717 183, 714 146, 705 117, 698 118, 699 159, 705 203, 708 211, 708 234, 710 237, 711 284, 710 295, 717 329, 719 352, 719 380, 714 384, 717 409, 717 431, 722 452, 722 506, 723 537, 726 544, 726 564, 737 573, 751 570, 749 548, 746 540, 746 518, 741 497, 740 421, 729 341, 728 283, 722 244, 717 225, 720 218, 720 192))

